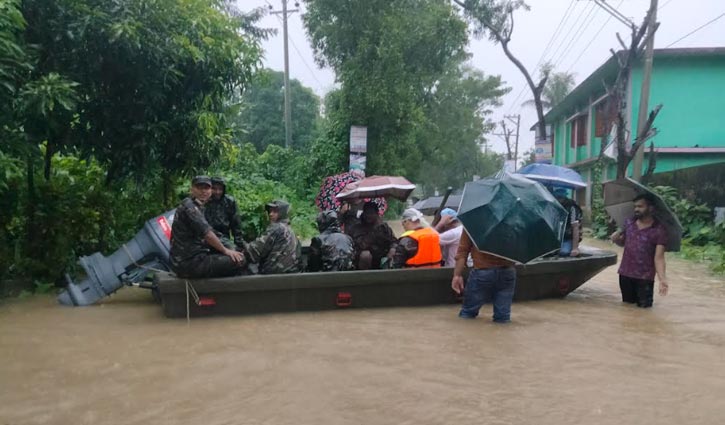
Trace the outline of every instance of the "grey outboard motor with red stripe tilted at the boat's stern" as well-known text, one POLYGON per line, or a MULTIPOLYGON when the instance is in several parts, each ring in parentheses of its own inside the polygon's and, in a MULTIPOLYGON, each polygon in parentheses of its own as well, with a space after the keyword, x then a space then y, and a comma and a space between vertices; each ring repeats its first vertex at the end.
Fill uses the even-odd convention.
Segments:
POLYGON ((86 278, 75 283, 66 274, 68 287, 58 295, 58 302, 64 305, 90 305, 124 285, 143 280, 153 269, 169 270, 171 224, 175 212, 175 209, 167 211, 147 221, 133 239, 109 257, 104 257, 100 252, 81 257, 78 263, 86 271, 86 278))

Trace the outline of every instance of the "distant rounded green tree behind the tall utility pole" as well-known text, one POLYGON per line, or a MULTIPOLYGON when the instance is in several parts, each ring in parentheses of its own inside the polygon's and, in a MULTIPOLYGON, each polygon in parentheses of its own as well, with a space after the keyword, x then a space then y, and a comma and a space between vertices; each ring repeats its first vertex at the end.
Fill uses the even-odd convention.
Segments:
MULTIPOLYGON (((320 116, 320 99, 298 80, 290 80, 292 97, 292 147, 303 148, 315 137, 320 116)), ((284 73, 260 72, 241 98, 239 125, 243 141, 249 141, 259 152, 275 144, 284 146, 284 73)))

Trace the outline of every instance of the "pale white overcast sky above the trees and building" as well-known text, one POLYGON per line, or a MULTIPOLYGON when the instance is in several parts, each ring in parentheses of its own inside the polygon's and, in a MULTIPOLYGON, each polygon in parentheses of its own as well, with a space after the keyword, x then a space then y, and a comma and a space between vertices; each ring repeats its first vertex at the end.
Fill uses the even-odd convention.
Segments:
MULTIPOLYGON (((364 1, 364 0, 359 0, 364 1)), ((608 0, 624 16, 637 25, 644 18, 650 0, 608 0)), ((281 9, 281 0, 238 0, 242 10, 256 7, 281 9)), ((592 0, 529 0, 531 10, 516 13, 516 27, 511 51, 524 65, 532 70, 542 59, 556 64, 558 71, 570 71, 576 76, 577 84, 606 61, 609 49, 618 47, 615 33, 627 37, 629 31, 592 0), (562 23, 563 25, 560 25, 562 23), (559 31, 556 32, 557 27, 559 31), (547 46, 548 49, 547 49, 547 46)), ((289 8, 295 8, 290 1, 289 8)), ((300 2, 301 13, 304 4, 300 2)), ((670 47, 681 37, 708 21, 725 14, 725 0, 659 0, 657 20, 660 29, 655 37, 655 47, 670 47)), ((262 27, 279 28, 278 35, 264 42, 264 64, 266 67, 283 70, 282 23, 274 15, 266 16, 262 27)), ((289 18, 290 33, 290 76, 317 94, 323 96, 335 86, 335 75, 330 69, 320 69, 315 64, 312 48, 307 39, 300 13, 289 18)), ((725 16, 707 25, 698 32, 677 42, 671 47, 725 46, 725 16)), ((534 136, 528 129, 536 122, 533 107, 521 107, 531 98, 530 90, 520 71, 506 58, 501 46, 487 39, 471 39, 469 51, 473 54, 471 63, 487 74, 498 74, 512 88, 504 98, 494 119, 500 121, 505 114, 521 114, 521 139, 519 154, 533 146, 534 136)), ((498 152, 505 150, 503 142, 490 136, 490 146, 498 152)))

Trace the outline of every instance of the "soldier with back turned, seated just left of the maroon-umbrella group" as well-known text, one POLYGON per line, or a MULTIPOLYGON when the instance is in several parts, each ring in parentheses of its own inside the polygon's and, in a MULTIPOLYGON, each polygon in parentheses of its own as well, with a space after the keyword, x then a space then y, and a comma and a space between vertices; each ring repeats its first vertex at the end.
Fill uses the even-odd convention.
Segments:
POLYGON ((307 269, 311 272, 337 272, 352 270, 355 254, 352 238, 340 231, 335 211, 323 211, 317 215, 320 236, 312 238, 307 269))

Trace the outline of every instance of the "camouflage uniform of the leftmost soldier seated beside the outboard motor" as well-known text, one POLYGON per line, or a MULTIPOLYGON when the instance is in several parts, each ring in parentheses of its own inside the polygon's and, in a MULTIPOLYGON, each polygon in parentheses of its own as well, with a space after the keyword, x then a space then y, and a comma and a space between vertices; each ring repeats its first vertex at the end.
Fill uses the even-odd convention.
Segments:
POLYGON ((192 198, 181 201, 171 227, 171 269, 179 277, 222 277, 239 274, 243 265, 217 252, 204 236, 212 227, 204 218, 201 205, 192 198))

